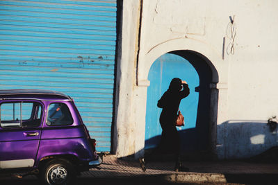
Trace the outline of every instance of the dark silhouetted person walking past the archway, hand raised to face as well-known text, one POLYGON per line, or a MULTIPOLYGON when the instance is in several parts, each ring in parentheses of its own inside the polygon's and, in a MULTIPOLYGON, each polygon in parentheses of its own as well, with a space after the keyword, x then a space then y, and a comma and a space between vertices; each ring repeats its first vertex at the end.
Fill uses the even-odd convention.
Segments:
MULTIPOLYGON (((181 164, 181 140, 176 128, 177 112, 179 110, 179 104, 183 98, 189 95, 189 88, 186 81, 179 78, 173 78, 170 82, 170 86, 165 91, 160 100, 158 100, 157 106, 162 108, 159 123, 161 124, 162 134, 161 142, 158 146, 159 151, 167 150, 172 152, 176 157, 175 171, 188 171, 181 164)), ((140 165, 143 171, 146 170, 145 162, 148 161, 149 156, 139 159, 140 165)))

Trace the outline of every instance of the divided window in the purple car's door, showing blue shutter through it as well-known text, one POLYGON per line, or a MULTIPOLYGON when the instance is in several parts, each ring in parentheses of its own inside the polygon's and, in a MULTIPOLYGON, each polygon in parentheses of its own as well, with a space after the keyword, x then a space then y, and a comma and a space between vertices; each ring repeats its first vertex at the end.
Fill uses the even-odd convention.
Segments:
POLYGON ((41 123, 42 105, 35 102, 7 102, 0 105, 0 126, 38 127, 41 123))

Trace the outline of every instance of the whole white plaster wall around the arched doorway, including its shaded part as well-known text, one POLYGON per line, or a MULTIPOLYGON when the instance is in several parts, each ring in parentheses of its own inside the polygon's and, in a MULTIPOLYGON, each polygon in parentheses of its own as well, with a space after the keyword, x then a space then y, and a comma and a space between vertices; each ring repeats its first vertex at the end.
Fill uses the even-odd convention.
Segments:
POLYGON ((278 30, 278 1, 143 0, 138 61, 136 28, 140 14, 136 14, 136 10, 140 10, 140 1, 124 1, 123 7, 122 24, 126 26, 122 26, 120 68, 121 73, 129 74, 120 79, 117 76, 120 93, 115 150, 119 156, 128 155, 130 148, 137 156, 142 155, 147 75, 152 62, 169 51, 186 49, 204 55, 218 73, 218 76, 213 73, 213 82, 218 83, 219 89, 218 103, 215 104, 218 105, 217 135, 213 139, 218 157, 250 157, 277 146, 278 136, 276 132, 269 132, 266 121, 271 116, 278 116, 278 35, 275 33, 278 30), (234 17, 236 28, 233 55, 227 53, 230 16, 234 17), (134 62, 138 62, 137 76, 134 62), (136 78, 138 85, 133 86, 136 78), (123 85, 131 85, 133 89, 123 85), (125 98, 126 91, 132 91, 128 98, 125 98), (130 120, 134 124, 131 130, 134 130, 127 134, 130 120), (119 136, 122 130, 124 134, 119 136), (254 134, 259 131, 261 136, 256 137, 255 143, 262 148, 254 147, 252 143, 254 134), (250 142, 246 140, 248 136, 250 142), (126 139, 132 141, 126 142, 126 139))

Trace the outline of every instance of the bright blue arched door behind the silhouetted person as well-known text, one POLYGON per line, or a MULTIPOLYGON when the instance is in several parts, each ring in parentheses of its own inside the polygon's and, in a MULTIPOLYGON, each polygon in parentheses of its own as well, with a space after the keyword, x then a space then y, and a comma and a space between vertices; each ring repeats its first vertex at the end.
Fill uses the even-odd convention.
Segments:
POLYGON ((160 141, 162 130, 159 116, 162 109, 157 107, 157 101, 167 91, 172 78, 186 80, 190 88, 190 95, 181 100, 179 106, 186 122, 185 126, 177 127, 181 138, 186 130, 196 127, 199 92, 195 91, 195 88, 199 87, 199 75, 195 67, 185 58, 172 53, 165 53, 152 64, 149 70, 150 85, 147 89, 145 149, 155 148, 160 141))

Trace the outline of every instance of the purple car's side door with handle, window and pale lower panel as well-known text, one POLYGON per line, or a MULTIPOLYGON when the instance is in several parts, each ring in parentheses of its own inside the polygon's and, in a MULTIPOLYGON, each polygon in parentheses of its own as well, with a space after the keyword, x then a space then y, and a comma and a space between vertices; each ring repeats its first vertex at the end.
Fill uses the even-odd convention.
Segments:
POLYGON ((0 100, 0 169, 33 167, 43 110, 37 100, 0 100))

